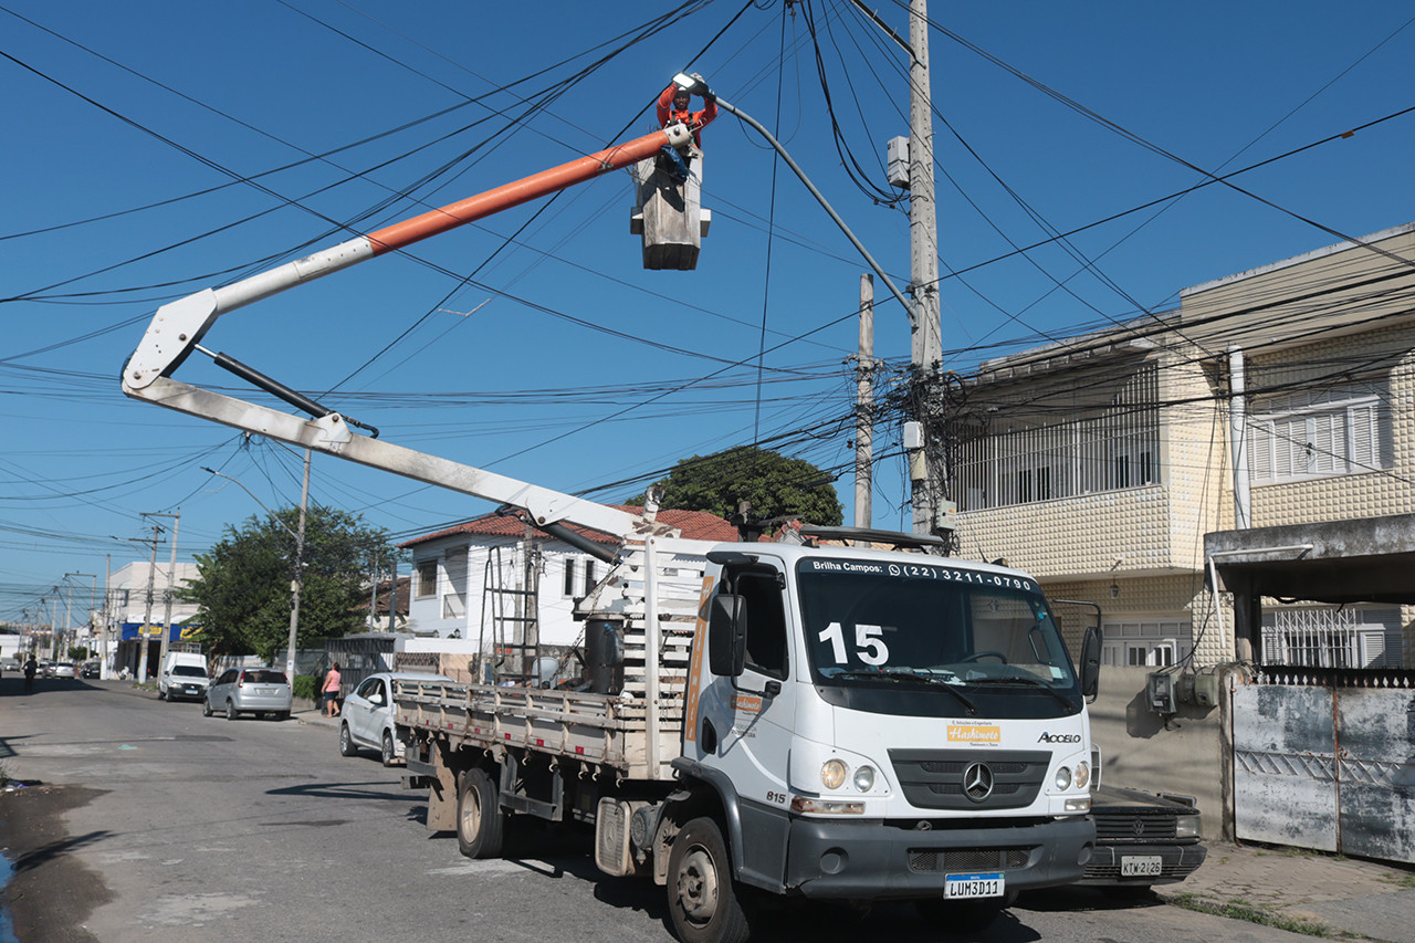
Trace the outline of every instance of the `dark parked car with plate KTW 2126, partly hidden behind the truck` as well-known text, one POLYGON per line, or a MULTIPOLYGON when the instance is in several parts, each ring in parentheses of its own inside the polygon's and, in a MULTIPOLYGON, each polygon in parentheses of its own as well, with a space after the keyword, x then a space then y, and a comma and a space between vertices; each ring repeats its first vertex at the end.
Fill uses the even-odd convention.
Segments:
POLYGON ((1138 896, 1174 884, 1204 862, 1203 817, 1189 796, 1098 786, 1091 793, 1095 854, 1078 884, 1138 896))

